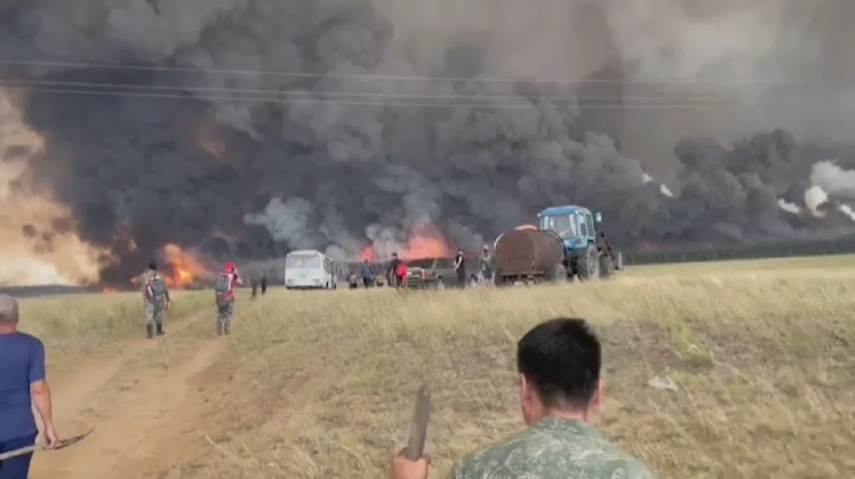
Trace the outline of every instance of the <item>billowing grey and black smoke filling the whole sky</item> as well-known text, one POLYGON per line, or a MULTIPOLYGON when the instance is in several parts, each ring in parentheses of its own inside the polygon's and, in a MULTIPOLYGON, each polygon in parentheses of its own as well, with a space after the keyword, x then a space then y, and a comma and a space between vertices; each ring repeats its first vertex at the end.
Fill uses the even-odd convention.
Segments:
POLYGON ((852 182, 815 165, 855 159, 839 143, 853 9, 6 2, 2 121, 24 133, 0 137, 3 209, 52 209, 3 237, 55 268, 88 259, 62 263, 67 281, 97 263, 115 284, 170 243, 246 260, 475 248, 565 203, 625 248, 838 237, 852 218, 821 212, 844 212, 852 182))

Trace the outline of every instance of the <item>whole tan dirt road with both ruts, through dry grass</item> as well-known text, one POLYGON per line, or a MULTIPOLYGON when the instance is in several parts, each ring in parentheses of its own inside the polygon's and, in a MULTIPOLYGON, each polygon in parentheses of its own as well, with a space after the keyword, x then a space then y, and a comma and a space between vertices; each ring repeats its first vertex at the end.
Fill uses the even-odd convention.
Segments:
POLYGON ((92 359, 52 384, 61 435, 96 428, 68 449, 38 453, 33 477, 143 479, 161 477, 209 447, 203 405, 215 400, 217 359, 227 338, 182 331, 207 316, 187 318, 167 336, 121 345, 110 359, 92 359))

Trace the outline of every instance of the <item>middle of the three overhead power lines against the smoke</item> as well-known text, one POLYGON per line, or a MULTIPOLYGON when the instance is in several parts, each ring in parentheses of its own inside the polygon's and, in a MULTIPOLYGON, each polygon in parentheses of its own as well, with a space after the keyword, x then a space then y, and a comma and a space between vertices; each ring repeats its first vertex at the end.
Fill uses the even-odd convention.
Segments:
MULTIPOLYGON (((58 86, 58 87, 80 87, 80 88, 115 88, 115 89, 139 89, 141 91, 194 91, 194 92, 213 92, 213 93, 247 93, 247 94, 266 94, 276 96, 293 96, 293 95, 317 95, 317 96, 362 96, 374 98, 421 98, 431 100, 520 100, 525 96, 509 96, 509 95, 439 95, 425 93, 388 93, 388 92, 364 92, 364 91, 304 91, 304 90, 263 90, 263 89, 248 89, 248 88, 220 88, 207 86, 169 86, 169 85, 139 85, 139 84, 116 84, 104 82, 80 82, 80 81, 64 81, 64 80, 21 80, 21 79, 0 79, 3 85, 21 85, 21 86, 58 86)), ((243 96, 241 96, 243 98, 243 96)), ((538 100, 565 100, 565 101, 604 101, 604 100, 619 100, 619 101, 673 101, 674 98, 668 96, 532 96, 538 100)), ((719 102, 719 101, 736 101, 734 96, 685 96, 680 98, 681 101, 699 101, 699 102, 719 102)))

